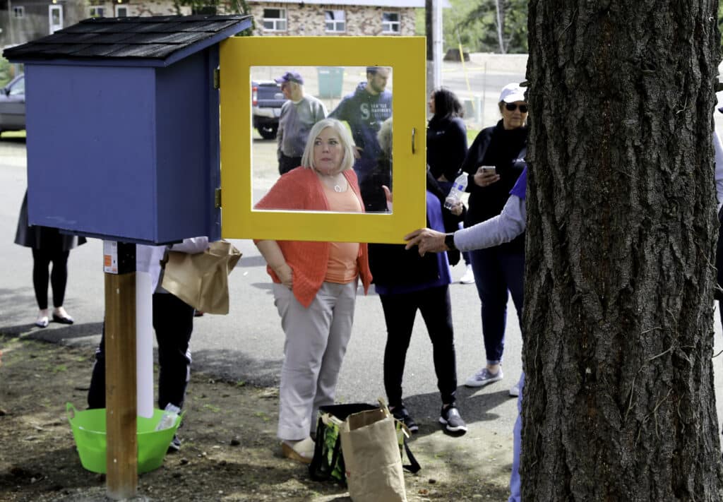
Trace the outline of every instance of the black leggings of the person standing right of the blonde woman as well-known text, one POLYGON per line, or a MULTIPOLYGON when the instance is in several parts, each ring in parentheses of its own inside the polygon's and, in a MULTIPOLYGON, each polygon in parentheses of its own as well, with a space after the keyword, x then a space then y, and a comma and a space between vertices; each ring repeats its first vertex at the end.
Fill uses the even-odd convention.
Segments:
POLYGON ((384 349, 384 388, 390 407, 402 404, 402 378, 406 352, 411 340, 416 310, 422 312, 432 341, 432 356, 442 404, 455 402, 457 361, 452 328, 449 286, 424 289, 414 293, 380 294, 387 323, 387 346, 384 349))

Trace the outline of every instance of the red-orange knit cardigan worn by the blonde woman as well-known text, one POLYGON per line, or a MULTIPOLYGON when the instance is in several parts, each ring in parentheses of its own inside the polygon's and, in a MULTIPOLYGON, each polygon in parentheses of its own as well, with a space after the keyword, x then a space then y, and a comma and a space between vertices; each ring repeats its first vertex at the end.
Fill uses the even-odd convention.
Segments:
MULTIPOLYGON (((359 183, 356 181, 354 170, 343 171, 346 181, 359 198, 362 210, 364 203, 359 193, 359 183)), ((298 167, 283 174, 281 178, 271 187, 257 205, 257 209, 281 209, 281 210, 329 210, 329 203, 324 195, 322 184, 312 169, 298 167)), ((254 242, 258 242, 257 240, 254 242)), ((307 241, 277 241, 283 258, 291 267, 294 274, 294 285, 292 291, 294 297, 301 305, 309 307, 321 288, 326 267, 329 261, 328 242, 307 242, 307 241)), ((369 284, 372 282, 372 273, 369 271, 369 253, 367 244, 359 244, 359 256, 356 258, 359 265, 359 277, 364 284, 364 293, 367 293, 369 284)), ((281 283, 273 270, 267 265, 266 271, 275 283, 281 283)))

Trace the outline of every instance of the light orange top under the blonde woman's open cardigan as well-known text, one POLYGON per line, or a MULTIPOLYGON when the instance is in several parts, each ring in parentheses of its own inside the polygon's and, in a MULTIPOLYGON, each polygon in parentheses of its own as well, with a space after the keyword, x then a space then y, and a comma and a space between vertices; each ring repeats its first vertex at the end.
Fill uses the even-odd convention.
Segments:
MULTIPOLYGON (((321 184, 324 195, 329 201, 329 208, 339 213, 361 213, 361 203, 354 192, 336 192, 325 184, 321 184)), ((349 185, 351 187, 351 184, 349 185)), ((330 242, 329 262, 326 265, 325 281, 347 284, 356 279, 359 267, 356 257, 359 255, 359 242, 330 242)))

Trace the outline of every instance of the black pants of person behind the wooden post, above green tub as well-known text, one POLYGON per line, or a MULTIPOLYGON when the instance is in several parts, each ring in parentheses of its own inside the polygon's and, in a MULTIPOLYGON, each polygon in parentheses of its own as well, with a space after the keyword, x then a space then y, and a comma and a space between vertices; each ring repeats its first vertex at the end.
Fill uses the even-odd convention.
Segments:
MULTIPOLYGON (((158 408, 171 403, 183 407, 191 371, 188 351, 193 332, 194 309, 170 293, 153 294, 153 329, 158 342, 158 408)), ((95 351, 93 376, 90 378, 88 407, 106 407, 106 328, 95 351)))

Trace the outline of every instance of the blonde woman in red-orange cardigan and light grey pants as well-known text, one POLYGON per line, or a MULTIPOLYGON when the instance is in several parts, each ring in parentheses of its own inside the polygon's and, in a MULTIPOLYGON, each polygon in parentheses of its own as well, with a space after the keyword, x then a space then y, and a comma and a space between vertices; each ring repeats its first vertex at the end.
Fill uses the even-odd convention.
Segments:
MULTIPOLYGON (((354 164, 354 143, 335 119, 317 122, 301 158, 271 187, 257 209, 364 211, 354 164)), ((310 463, 309 437, 317 409, 333 404, 354 320, 356 285, 372 280, 367 244, 256 242, 273 280, 275 305, 286 334, 279 389, 278 438, 283 455, 310 463)))

